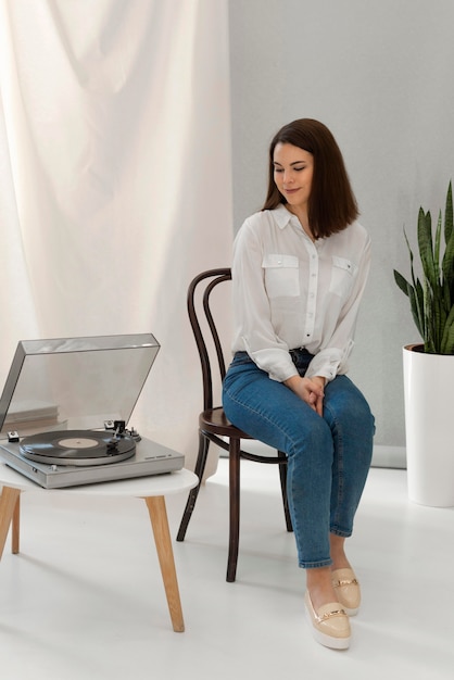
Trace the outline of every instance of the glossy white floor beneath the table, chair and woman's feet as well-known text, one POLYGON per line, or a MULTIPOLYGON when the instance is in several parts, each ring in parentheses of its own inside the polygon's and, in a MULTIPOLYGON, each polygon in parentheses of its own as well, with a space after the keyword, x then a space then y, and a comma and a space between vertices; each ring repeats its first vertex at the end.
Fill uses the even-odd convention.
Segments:
MULTIPOLYGON (((236 583, 225 581, 227 462, 174 543, 186 632, 172 630, 142 501, 23 494, 21 554, 0 563, 4 680, 454 677, 454 508, 406 500, 373 468, 350 541, 363 587, 349 651, 313 641, 275 467, 242 464, 236 583)), ((169 496, 176 534, 186 498, 169 496)))

